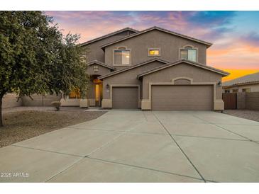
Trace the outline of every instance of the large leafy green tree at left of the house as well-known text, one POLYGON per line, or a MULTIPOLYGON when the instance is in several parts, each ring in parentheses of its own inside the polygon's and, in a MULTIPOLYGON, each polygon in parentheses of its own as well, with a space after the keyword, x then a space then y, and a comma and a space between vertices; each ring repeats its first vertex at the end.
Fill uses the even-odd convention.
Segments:
POLYGON ((0 11, 0 127, 2 98, 15 92, 67 95, 87 91, 89 77, 77 45, 79 35, 63 36, 53 18, 42 11, 0 11))

